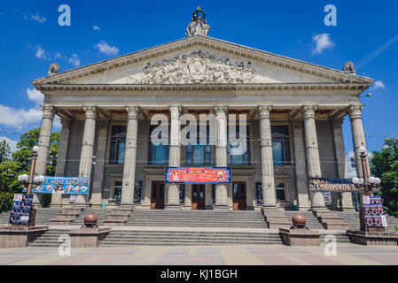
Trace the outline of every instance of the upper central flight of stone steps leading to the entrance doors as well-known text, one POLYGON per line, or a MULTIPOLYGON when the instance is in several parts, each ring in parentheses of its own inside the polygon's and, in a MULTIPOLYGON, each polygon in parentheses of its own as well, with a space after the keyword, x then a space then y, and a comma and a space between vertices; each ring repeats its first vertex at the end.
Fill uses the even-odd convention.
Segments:
POLYGON ((261 211, 133 210, 125 226, 267 228, 261 211))

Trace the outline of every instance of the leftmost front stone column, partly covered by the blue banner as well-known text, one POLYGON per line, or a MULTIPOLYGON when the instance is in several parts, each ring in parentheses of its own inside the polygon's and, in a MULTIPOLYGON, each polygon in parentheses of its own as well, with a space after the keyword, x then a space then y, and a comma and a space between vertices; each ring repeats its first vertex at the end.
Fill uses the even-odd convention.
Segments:
MULTIPOLYGON (((55 116, 55 108, 52 105, 42 105, 43 119, 39 135, 39 152, 36 159, 35 173, 45 175, 47 171, 47 157, 49 156, 52 121, 55 116)), ((33 204, 35 207, 42 206, 42 195, 34 194, 33 204)))

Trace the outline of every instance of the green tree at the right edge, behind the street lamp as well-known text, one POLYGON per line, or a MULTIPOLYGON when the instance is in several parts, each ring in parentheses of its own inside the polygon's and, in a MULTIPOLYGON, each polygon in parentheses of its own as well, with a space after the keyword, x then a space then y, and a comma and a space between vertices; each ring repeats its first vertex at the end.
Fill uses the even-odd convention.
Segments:
POLYGON ((398 216, 398 139, 385 139, 383 149, 373 152, 371 173, 381 179, 386 212, 398 216))

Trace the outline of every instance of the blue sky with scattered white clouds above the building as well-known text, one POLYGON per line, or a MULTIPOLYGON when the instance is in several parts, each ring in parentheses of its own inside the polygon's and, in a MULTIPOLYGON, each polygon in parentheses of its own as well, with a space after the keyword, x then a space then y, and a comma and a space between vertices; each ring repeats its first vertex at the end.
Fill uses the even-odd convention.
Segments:
MULTIPOLYGON (((16 141, 40 126, 42 97, 30 81, 45 76, 51 63, 66 71, 181 39, 197 5, 207 13, 212 37, 338 70, 353 61, 358 74, 378 81, 363 98, 369 150, 398 136, 395 1, 51 0, 0 5, 0 137, 16 141), (71 7, 71 27, 58 24, 60 4, 71 7), (337 27, 324 25, 326 4, 337 8, 337 27)), ((352 151, 348 119, 344 134, 352 151)))

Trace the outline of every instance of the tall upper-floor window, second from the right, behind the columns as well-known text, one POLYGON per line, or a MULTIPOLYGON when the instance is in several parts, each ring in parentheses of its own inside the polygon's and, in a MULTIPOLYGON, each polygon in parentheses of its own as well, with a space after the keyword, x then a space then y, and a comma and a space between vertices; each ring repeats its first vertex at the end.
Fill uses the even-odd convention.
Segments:
MULTIPOLYGON (((246 126, 246 136, 239 136, 239 126, 236 126, 235 139, 244 139, 246 146, 242 147, 239 143, 230 144, 230 126, 228 126, 228 145, 227 157, 228 164, 246 165, 250 164, 250 144, 249 144, 249 126, 246 126), (235 154, 231 154, 234 151, 235 154), (238 154, 237 154, 238 153, 238 154)), ((233 138, 233 137, 232 137, 233 138)))

